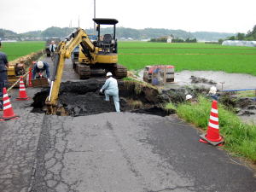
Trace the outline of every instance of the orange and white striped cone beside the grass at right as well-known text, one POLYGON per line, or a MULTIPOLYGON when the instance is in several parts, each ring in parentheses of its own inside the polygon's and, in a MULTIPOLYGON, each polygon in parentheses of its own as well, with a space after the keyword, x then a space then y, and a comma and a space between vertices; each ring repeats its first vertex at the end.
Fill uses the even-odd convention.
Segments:
POLYGON ((200 137, 199 141, 201 143, 210 143, 215 146, 224 143, 224 139, 219 135, 218 131, 218 102, 215 100, 212 101, 207 134, 202 134, 200 137))

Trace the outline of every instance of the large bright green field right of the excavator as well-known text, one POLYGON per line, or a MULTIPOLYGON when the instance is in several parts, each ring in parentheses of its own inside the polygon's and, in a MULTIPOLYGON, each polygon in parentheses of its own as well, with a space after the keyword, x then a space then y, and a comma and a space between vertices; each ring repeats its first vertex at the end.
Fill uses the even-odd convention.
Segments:
POLYGON ((130 70, 147 65, 175 66, 175 71, 211 70, 256 76, 256 49, 219 44, 120 42, 119 63, 130 70))

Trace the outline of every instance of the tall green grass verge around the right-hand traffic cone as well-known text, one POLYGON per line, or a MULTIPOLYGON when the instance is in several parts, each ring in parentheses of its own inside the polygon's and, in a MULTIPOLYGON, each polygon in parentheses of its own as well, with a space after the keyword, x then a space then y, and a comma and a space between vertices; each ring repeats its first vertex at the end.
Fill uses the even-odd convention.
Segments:
MULTIPOLYGON (((207 130, 212 103, 205 97, 199 96, 197 104, 181 103, 175 107, 172 103, 166 108, 175 108, 177 115, 204 130, 207 130)), ((224 148, 236 155, 246 157, 256 163, 256 125, 247 125, 218 104, 219 131, 224 136, 224 148)))

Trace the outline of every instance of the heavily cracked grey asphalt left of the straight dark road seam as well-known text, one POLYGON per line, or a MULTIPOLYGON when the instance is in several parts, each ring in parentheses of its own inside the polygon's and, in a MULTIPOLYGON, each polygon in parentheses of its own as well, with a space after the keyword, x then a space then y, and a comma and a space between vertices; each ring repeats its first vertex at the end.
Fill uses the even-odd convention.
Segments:
POLYGON ((37 148, 40 115, 26 113, 22 118, 2 123, 0 133, 0 191, 26 191, 30 183, 37 148), (32 120, 38 119, 38 120, 32 120))

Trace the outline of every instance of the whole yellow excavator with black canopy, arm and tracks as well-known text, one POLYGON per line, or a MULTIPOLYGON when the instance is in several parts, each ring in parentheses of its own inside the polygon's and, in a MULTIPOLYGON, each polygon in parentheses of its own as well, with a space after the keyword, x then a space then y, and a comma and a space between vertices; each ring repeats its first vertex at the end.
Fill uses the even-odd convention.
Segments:
POLYGON ((117 39, 115 38, 115 19, 93 19, 97 26, 97 40, 91 42, 83 29, 77 28, 65 41, 61 41, 55 52, 54 70, 50 78, 49 96, 46 98, 48 112, 55 114, 58 106, 58 95, 65 59, 70 58, 73 49, 79 45, 79 62, 74 64, 75 71, 80 79, 89 79, 91 71, 103 69, 105 73, 111 72, 117 79, 127 76, 127 68, 119 65, 117 54, 117 39), (113 25, 113 34, 101 36, 101 25, 113 25))

